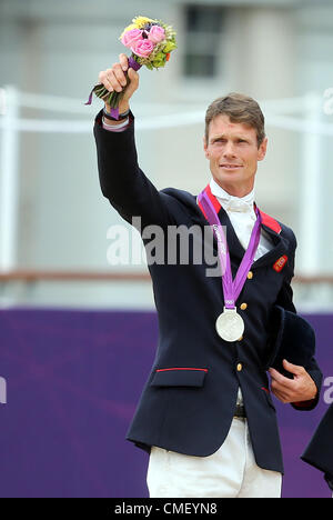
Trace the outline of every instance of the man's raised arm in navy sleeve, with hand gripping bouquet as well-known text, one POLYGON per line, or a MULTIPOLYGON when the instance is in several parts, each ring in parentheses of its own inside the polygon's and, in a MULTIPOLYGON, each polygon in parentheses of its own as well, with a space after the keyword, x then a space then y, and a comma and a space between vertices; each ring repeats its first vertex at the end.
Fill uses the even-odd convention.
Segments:
MULTIPOLYGON (((127 56, 120 54, 118 63, 99 74, 99 82, 109 91, 121 92, 127 82, 127 71, 130 84, 120 102, 120 113, 130 109, 130 99, 139 87, 138 72, 129 69, 127 56)), ((105 110, 111 110, 107 103, 105 110)), ((105 130, 102 118, 103 113, 100 112, 94 126, 102 193, 128 222, 131 222, 133 217, 141 217, 142 226, 165 227, 172 223, 168 210, 169 197, 159 192, 139 167, 132 113, 129 116, 129 124, 122 128, 122 131, 105 130)), ((113 121, 104 116, 104 122, 117 130, 123 121, 113 121)))

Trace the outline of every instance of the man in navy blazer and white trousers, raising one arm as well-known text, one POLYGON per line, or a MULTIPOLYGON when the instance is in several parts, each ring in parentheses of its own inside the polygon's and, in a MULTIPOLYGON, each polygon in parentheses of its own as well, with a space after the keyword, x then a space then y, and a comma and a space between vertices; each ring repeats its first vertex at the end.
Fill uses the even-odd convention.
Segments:
MULTIPOLYGON (((121 54, 119 63, 100 72, 99 82, 121 92, 127 70, 121 54)), ((194 226, 193 244, 204 248, 208 221, 196 197, 174 188, 158 191, 139 167, 129 107, 139 74, 133 69, 128 74, 131 83, 120 118, 114 119, 105 104, 95 120, 102 192, 128 222, 141 218, 145 246, 147 226, 159 227, 165 237, 171 227, 194 226)), ((254 177, 268 143, 264 119, 254 100, 230 94, 210 106, 205 123, 204 153, 212 172, 205 193, 226 229, 234 277, 255 220, 254 177)), ((313 357, 303 367, 283 360, 285 374, 271 368, 273 309, 295 313, 291 280, 296 240, 290 228, 260 214, 258 256, 236 300, 244 322, 236 341, 226 342, 216 332, 224 306, 221 276, 208 276, 211 264, 205 257, 194 261, 194 246, 186 264, 179 261, 179 250, 176 261, 168 262, 165 239, 165 261, 149 264, 160 339, 127 438, 151 453, 151 497, 280 496, 281 480, 275 477, 283 473, 283 462, 266 372, 281 401, 297 410, 317 403, 321 371, 313 357)), ((212 251, 216 258, 215 240, 212 251)))

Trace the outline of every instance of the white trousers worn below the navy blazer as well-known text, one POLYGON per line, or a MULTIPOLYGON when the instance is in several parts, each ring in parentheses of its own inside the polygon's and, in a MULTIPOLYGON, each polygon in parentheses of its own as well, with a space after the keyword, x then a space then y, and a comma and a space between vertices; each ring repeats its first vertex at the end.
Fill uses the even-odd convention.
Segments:
POLYGON ((280 498, 282 474, 259 468, 248 421, 233 419, 221 448, 209 457, 151 449, 150 498, 280 498))

